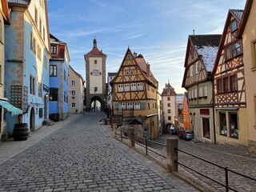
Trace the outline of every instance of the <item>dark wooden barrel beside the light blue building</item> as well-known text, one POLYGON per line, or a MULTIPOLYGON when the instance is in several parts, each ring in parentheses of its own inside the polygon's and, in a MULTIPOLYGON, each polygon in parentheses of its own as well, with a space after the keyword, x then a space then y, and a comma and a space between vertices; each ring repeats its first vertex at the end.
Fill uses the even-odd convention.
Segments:
POLYGON ((14 125, 14 141, 25 141, 29 137, 30 131, 27 123, 16 123, 14 125))

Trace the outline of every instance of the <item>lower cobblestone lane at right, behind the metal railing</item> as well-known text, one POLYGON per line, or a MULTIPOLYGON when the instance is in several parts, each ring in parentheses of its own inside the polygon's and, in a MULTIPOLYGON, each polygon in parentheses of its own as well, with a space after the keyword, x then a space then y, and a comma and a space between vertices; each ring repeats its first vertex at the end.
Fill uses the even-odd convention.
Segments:
MULTIPOLYGON (((163 134, 154 142, 165 144, 166 138, 175 138, 177 136, 170 136, 163 134)), ((166 154, 166 148, 162 146, 151 145, 154 149, 158 149, 162 154, 166 154)), ((210 162, 217 163, 220 166, 228 167, 230 170, 237 171, 241 174, 246 174, 250 177, 256 178, 256 157, 249 154, 245 147, 211 145, 202 142, 191 142, 178 140, 178 149, 185 150, 190 154, 194 154, 200 158, 204 158, 210 162)), ((178 162, 190 166, 194 170, 202 174, 206 174, 210 178, 225 184, 225 171, 217 166, 211 166, 209 163, 202 162, 197 158, 193 158, 182 152, 178 152, 178 162)), ((186 169, 184 166, 178 166, 178 172, 185 175, 191 182, 206 187, 211 191, 225 191, 225 188, 216 182, 212 182, 207 178, 196 174, 192 170, 186 169)), ((228 172, 229 186, 237 191, 256 191, 256 182, 250 179, 228 172)))

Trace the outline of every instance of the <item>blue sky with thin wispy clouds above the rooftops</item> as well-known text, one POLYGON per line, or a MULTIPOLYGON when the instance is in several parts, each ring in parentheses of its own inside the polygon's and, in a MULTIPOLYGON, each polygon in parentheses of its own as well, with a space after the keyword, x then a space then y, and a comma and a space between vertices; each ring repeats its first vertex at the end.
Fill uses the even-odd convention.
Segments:
POLYGON ((84 54, 107 55, 106 73, 117 72, 127 47, 150 63, 162 93, 170 81, 181 94, 189 34, 222 34, 229 9, 246 0, 47 0, 50 33, 67 43, 70 65, 85 78, 84 54))

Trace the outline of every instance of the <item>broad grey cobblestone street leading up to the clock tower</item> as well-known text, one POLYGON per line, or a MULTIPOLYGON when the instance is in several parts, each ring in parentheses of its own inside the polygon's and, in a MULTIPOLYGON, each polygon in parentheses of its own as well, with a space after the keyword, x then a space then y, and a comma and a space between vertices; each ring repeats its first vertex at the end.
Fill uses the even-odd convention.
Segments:
MULTIPOLYGON (((198 191, 80 115, 0 165, 0 191, 198 191)), ((30 142, 30 138, 27 142, 30 142)))

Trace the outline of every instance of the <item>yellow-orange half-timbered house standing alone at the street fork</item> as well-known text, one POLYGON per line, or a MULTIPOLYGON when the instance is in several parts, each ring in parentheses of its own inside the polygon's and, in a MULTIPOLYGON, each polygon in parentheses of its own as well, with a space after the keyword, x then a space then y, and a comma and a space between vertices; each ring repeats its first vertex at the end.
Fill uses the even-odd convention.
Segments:
POLYGON ((142 54, 127 49, 118 74, 111 82, 113 115, 122 115, 123 125, 134 118, 143 118, 141 136, 158 138, 158 82, 142 54))

